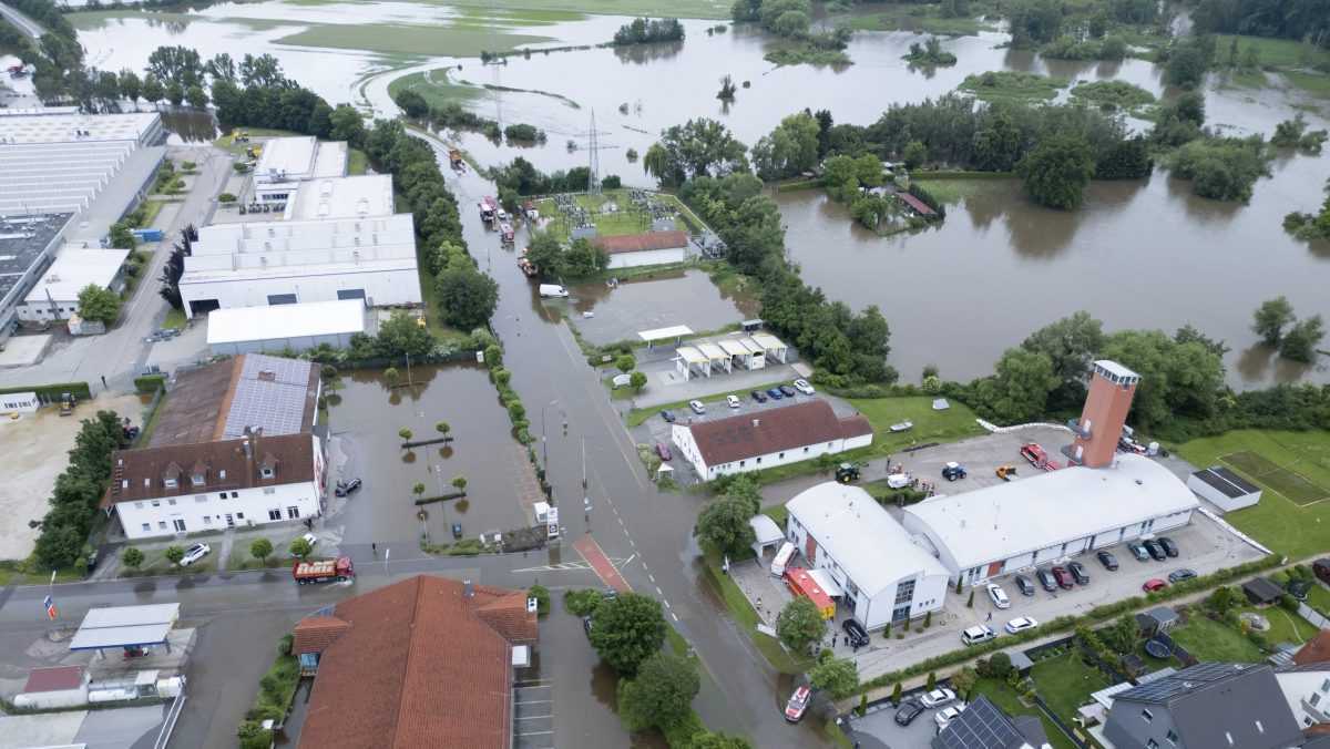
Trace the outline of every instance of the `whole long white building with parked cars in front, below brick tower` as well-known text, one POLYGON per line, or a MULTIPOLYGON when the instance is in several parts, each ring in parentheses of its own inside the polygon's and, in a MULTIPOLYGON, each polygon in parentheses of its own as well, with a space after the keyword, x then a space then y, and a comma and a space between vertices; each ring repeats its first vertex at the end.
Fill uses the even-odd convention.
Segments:
POLYGON ((1123 454, 1103 468, 1073 466, 926 499, 907 507, 903 522, 932 543, 952 580, 972 585, 1185 525, 1198 506, 1172 471, 1123 454))

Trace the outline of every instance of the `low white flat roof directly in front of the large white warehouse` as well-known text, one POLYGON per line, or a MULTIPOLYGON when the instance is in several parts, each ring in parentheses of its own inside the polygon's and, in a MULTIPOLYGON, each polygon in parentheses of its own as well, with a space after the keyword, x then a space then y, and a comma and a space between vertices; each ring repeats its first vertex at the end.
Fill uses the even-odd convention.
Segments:
POLYGON ((207 314, 207 345, 364 333, 364 302, 229 307, 207 314))

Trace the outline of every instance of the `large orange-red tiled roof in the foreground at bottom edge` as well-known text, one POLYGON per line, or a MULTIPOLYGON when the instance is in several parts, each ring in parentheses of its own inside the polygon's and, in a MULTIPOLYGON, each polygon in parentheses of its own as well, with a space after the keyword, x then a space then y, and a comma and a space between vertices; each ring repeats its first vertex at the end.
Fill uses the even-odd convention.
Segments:
POLYGON ((314 617, 314 631, 346 628, 319 659, 299 745, 508 749, 511 648, 536 641, 536 615, 521 591, 472 591, 420 575, 314 617))

